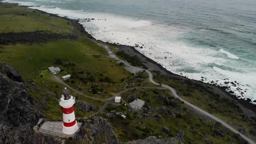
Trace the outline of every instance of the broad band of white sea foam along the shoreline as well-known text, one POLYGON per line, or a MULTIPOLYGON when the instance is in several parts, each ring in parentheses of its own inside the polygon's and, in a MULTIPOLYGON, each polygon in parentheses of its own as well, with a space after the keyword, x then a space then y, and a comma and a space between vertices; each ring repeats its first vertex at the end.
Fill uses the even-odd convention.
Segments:
POLYGON ((159 25, 149 20, 113 14, 86 13, 79 10, 49 7, 32 8, 67 16, 71 19, 80 19, 80 23, 86 31, 96 39, 130 46, 138 44, 139 47, 136 47, 138 51, 173 73, 182 73, 183 76, 195 80, 206 77, 203 79, 204 82, 214 81, 220 86, 229 86, 229 90, 235 92, 237 96, 244 95, 245 98, 256 99, 256 81, 253 81, 256 74, 243 71, 242 66, 237 67, 232 59, 239 59, 239 57, 223 49, 194 47, 178 40, 182 34, 189 32, 190 29, 159 25), (91 20, 92 18, 95 20, 91 20), (90 19, 90 21, 85 19, 90 19), (220 53, 227 57, 219 57, 220 53), (238 71, 224 70, 216 66, 213 67, 212 64, 219 65, 219 67, 226 66, 238 71), (224 84, 227 81, 237 81, 237 84, 236 86, 230 83, 224 84), (241 90, 237 89, 237 86, 241 90))

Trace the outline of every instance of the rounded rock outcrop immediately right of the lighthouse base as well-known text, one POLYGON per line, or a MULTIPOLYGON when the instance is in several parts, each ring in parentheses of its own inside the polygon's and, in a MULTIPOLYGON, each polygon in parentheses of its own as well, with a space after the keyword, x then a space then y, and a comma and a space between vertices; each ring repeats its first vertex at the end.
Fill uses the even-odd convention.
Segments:
POLYGON ((75 143, 119 143, 112 125, 103 118, 87 119, 74 139, 75 143))

